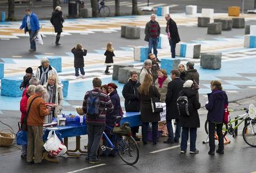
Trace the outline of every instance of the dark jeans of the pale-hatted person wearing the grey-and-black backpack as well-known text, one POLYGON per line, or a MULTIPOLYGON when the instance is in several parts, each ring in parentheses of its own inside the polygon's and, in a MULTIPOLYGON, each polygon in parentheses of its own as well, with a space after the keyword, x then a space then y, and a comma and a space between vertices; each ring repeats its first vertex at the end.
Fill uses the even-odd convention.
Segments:
POLYGON ((190 151, 195 151, 195 141, 196 141, 196 128, 182 128, 181 134, 181 143, 180 143, 180 150, 186 151, 186 147, 188 146, 188 139, 189 139, 189 131, 190 131, 190 151))

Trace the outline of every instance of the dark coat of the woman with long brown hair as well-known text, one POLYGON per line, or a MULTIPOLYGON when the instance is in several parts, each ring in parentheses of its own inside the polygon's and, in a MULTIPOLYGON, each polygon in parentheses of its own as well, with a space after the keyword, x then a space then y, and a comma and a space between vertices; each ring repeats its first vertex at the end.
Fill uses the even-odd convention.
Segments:
POLYGON ((140 112, 141 112, 141 122, 149 123, 149 122, 158 122, 160 121, 160 113, 153 113, 151 107, 151 97, 152 95, 156 96, 160 99, 160 93, 158 92, 155 86, 151 86, 149 89, 149 95, 145 95, 143 93, 139 93, 140 99, 140 112), (154 88, 154 89, 153 89, 154 88))

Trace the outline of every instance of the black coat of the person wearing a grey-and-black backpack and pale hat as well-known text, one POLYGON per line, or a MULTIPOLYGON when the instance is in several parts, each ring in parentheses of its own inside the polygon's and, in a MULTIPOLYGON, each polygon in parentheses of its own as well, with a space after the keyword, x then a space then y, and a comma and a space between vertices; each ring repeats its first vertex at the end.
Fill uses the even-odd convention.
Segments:
POLYGON ((200 128, 200 120, 198 115, 198 109, 200 109, 200 103, 196 96, 197 90, 194 88, 183 88, 180 91, 179 96, 186 95, 189 101, 189 116, 179 115, 179 123, 184 128, 200 128))

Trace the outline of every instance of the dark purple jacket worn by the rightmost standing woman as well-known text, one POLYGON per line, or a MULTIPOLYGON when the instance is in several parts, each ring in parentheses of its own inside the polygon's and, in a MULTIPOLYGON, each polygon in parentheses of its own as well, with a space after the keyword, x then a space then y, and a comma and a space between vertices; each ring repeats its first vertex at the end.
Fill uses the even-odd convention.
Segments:
POLYGON ((223 123, 224 104, 228 104, 228 96, 225 91, 214 90, 208 94, 209 103, 205 105, 208 110, 207 119, 214 123, 223 123))

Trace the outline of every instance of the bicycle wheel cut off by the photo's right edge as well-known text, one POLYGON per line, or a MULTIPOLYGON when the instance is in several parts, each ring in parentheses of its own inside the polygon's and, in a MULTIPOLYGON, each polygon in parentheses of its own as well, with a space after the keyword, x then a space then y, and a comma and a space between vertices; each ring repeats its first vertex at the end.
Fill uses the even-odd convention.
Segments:
POLYGON ((256 123, 248 123, 243 129, 243 138, 245 143, 250 146, 256 147, 256 123))

